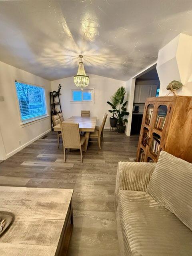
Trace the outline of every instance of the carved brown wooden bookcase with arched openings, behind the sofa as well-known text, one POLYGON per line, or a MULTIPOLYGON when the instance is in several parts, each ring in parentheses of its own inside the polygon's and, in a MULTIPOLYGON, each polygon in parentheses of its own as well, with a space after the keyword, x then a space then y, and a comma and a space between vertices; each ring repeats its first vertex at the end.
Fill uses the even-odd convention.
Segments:
POLYGON ((157 162, 161 150, 192 162, 192 97, 146 100, 136 161, 157 162))

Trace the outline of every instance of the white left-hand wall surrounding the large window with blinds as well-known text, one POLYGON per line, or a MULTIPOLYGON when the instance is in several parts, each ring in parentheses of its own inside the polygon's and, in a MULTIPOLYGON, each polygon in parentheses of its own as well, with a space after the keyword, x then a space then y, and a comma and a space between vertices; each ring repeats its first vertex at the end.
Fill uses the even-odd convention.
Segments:
POLYGON ((50 114, 50 81, 0 62, 0 96, 4 97, 4 101, 0 101, 0 130, 5 152, 4 159, 46 134, 51 127, 50 117, 48 117, 21 128, 15 80, 44 86, 47 110, 50 114), (21 145, 19 145, 19 140, 21 145))

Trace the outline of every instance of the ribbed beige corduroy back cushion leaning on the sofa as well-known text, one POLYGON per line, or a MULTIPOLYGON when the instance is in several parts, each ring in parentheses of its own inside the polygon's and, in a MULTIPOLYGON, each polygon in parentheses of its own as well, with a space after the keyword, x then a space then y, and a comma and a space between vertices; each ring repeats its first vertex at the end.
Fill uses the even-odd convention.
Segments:
POLYGON ((192 230, 192 164, 160 152, 147 193, 192 230))

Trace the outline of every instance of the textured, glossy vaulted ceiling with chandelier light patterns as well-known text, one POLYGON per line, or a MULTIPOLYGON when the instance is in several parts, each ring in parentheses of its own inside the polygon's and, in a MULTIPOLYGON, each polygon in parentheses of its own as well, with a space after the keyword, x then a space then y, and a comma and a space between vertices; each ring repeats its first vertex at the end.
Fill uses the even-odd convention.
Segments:
POLYGON ((0 61, 48 80, 87 73, 128 80, 179 33, 191 0, 0 1, 0 61))

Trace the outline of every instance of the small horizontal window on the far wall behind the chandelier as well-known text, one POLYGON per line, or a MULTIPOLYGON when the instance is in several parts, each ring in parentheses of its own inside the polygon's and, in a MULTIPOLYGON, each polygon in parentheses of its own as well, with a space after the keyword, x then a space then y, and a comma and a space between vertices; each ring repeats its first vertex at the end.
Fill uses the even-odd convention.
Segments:
POLYGON ((94 90, 72 90, 72 101, 94 102, 94 90))

